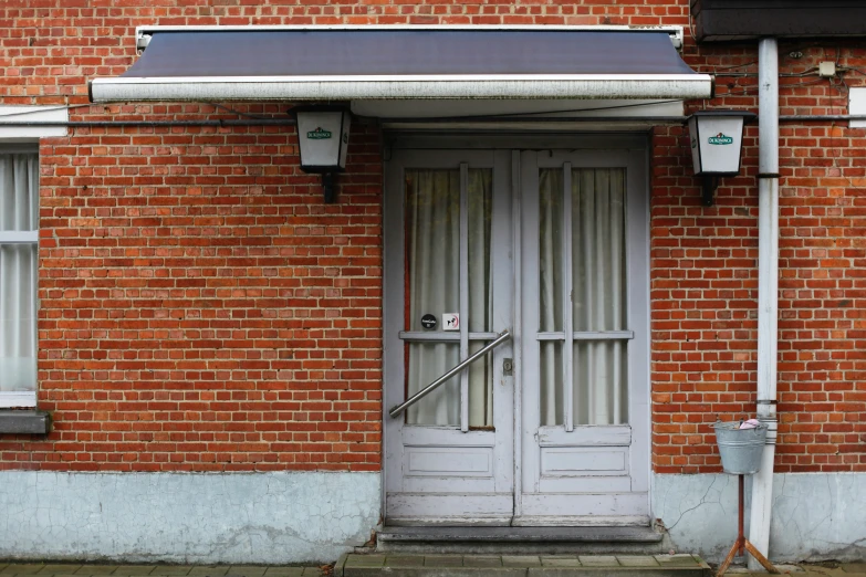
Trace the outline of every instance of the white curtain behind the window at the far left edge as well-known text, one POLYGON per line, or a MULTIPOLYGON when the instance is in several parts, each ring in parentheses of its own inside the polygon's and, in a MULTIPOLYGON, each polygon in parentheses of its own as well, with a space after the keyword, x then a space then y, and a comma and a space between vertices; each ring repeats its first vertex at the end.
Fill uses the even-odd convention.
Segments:
MULTIPOLYGON (((39 228, 39 158, 0 155, 0 231, 39 228)), ((36 245, 0 244, 0 391, 35 390, 36 245)))

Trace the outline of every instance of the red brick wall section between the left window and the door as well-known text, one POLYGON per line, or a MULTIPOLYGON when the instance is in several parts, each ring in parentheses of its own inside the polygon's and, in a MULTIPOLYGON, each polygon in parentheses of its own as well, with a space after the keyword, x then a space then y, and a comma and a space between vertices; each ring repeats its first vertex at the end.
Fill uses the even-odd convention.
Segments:
POLYGON ((377 135, 353 130, 326 206, 293 133, 42 140, 39 405, 55 424, 46 440, 0 441, 0 469, 379 469, 377 135))

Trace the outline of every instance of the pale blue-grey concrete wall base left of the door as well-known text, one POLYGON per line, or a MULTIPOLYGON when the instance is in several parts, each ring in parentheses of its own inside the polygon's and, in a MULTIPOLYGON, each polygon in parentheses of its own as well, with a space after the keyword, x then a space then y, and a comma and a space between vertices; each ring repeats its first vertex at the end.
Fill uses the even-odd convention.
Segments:
POLYGON ((0 472, 0 558, 334 560, 379 521, 378 473, 0 472))

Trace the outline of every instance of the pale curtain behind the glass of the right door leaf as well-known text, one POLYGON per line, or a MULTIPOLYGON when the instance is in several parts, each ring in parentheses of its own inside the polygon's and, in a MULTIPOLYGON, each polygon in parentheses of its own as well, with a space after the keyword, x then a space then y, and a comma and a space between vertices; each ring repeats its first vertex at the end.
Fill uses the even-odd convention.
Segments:
MULTIPOLYGON (((539 175, 539 331, 562 339, 540 343, 541 424, 565 422, 563 343, 563 219, 571 219, 572 307, 575 333, 626 329, 625 170, 572 171, 571 214, 564 214, 560 169, 539 175)), ((625 340, 575 340, 575 424, 627 422, 625 340)))

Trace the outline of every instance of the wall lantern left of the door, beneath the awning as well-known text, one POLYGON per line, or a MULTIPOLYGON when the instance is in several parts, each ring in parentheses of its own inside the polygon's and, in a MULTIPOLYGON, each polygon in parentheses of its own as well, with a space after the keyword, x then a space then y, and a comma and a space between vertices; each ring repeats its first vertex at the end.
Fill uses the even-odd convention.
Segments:
POLYGON ((336 174, 346 168, 352 115, 336 106, 299 106, 289 113, 298 123, 301 169, 322 175, 325 202, 334 202, 336 174))

